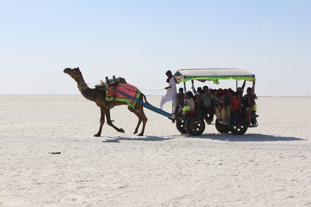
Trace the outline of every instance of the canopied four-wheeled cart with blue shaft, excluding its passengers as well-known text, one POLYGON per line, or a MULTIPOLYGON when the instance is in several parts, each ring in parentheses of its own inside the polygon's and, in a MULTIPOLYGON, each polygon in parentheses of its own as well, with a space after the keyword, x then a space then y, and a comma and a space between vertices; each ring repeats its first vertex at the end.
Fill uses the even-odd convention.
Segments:
MULTIPOLYGON (((191 80, 200 80, 204 81, 212 81, 214 84, 219 84, 219 80, 231 79, 236 80, 236 87, 238 84, 238 80, 247 80, 253 81, 255 80, 255 75, 248 72, 245 69, 183 69, 177 70, 173 74, 174 78, 176 79, 176 83, 184 83, 184 91, 186 92, 186 83, 187 81, 191 80)), ((129 96, 126 93, 118 91, 114 89, 116 92, 123 94, 129 98, 136 100, 137 102, 141 103, 145 108, 152 110, 158 114, 164 115, 171 120, 175 120, 176 128, 180 133, 188 133, 193 136, 201 135, 205 130, 205 122, 204 117, 200 116, 197 117, 197 114, 193 111, 189 111, 186 113, 185 118, 182 120, 181 114, 174 115, 170 114, 164 110, 161 110, 151 104, 143 102, 137 98, 129 96)), ((208 113, 208 111, 207 111, 208 113)), ((218 119, 215 120, 215 128, 220 133, 233 133, 234 135, 243 135, 248 128, 253 128, 258 126, 256 111, 252 112, 252 124, 248 125, 245 119, 241 119, 239 125, 230 125, 230 120, 226 121, 219 121, 218 119)), ((213 124, 213 123, 212 123, 213 124)))

